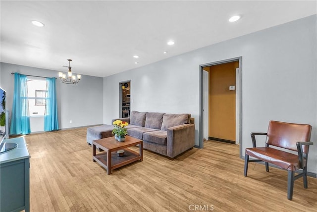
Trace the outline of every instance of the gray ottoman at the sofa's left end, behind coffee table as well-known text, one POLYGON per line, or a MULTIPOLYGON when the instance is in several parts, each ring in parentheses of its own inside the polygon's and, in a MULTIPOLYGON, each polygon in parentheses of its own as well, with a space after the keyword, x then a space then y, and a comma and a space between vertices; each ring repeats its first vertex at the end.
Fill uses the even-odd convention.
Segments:
POLYGON ((87 128, 87 143, 91 145, 94 140, 111 137, 113 126, 104 124, 96 127, 87 128))

